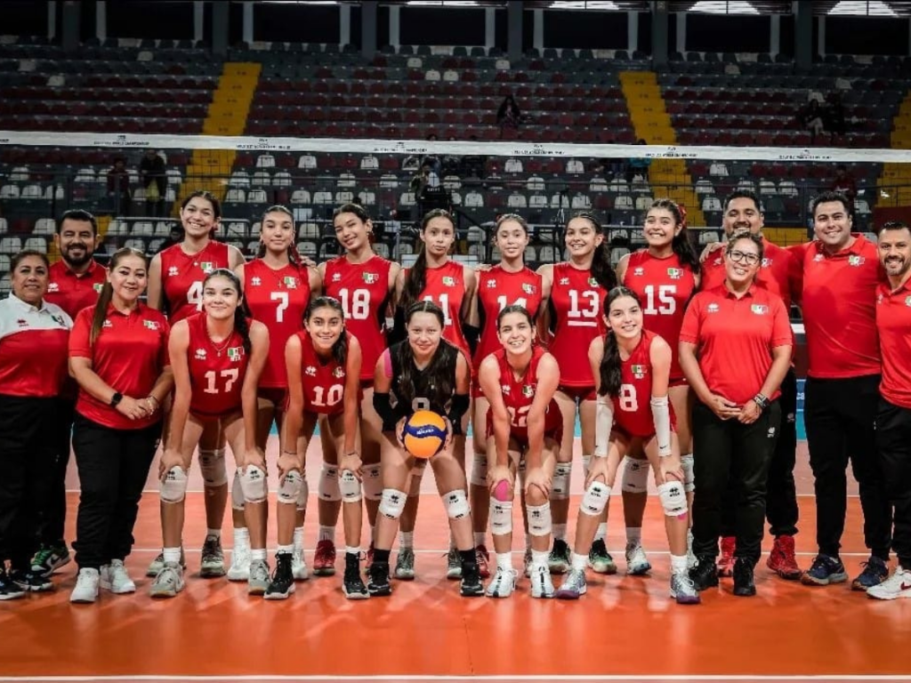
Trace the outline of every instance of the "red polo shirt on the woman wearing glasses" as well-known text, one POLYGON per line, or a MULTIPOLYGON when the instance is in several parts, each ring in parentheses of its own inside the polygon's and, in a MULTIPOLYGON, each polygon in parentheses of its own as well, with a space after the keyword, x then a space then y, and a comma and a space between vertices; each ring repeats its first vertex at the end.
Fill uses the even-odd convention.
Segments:
MULTIPOLYGON (((681 342, 696 345, 712 393, 738 405, 760 392, 772 368, 772 350, 791 346, 782 298, 752 285, 737 299, 724 285, 700 291, 683 317, 681 342)), ((776 391, 770 399, 778 398, 776 391)))

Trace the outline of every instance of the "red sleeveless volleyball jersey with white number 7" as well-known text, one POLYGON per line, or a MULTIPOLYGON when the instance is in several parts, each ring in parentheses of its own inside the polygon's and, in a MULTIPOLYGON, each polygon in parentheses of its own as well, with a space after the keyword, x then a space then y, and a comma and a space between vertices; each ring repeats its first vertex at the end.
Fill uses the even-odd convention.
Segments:
POLYGON ((307 269, 289 264, 273 270, 256 259, 243 267, 243 279, 243 294, 253 320, 269 330, 269 358, 262 368, 260 386, 285 389, 285 343, 303 327, 303 313, 310 302, 307 269))

